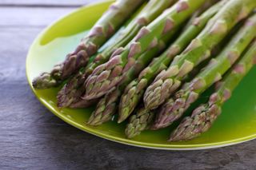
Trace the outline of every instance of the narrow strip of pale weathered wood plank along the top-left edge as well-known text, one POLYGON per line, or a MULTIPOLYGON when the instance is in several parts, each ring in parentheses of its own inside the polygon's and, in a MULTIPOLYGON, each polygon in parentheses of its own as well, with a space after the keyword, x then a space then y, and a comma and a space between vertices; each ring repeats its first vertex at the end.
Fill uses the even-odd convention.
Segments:
POLYGON ((92 2, 101 2, 104 0, 1 0, 0 6, 85 6, 92 2))

